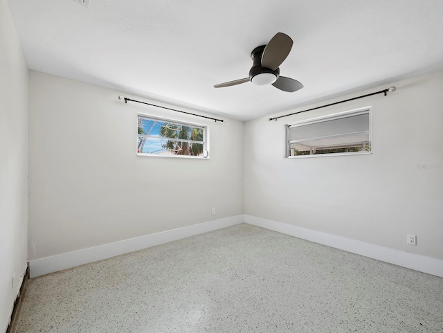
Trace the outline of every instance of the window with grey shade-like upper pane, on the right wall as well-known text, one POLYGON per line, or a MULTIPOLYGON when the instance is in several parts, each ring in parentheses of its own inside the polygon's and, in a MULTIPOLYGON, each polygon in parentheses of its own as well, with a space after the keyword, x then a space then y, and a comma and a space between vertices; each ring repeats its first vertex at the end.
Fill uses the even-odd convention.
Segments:
POLYGON ((370 107, 287 125, 287 156, 368 154, 370 107))

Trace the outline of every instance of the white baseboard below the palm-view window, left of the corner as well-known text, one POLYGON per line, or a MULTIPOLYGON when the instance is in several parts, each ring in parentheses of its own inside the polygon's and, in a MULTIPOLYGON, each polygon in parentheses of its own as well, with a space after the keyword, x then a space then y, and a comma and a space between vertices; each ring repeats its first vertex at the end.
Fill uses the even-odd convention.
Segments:
POLYGON ((135 237, 129 240, 122 240, 119 242, 90 247, 88 249, 31 260, 30 277, 35 278, 44 274, 54 273, 55 271, 62 271, 63 269, 69 269, 82 264, 88 264, 89 262, 95 262, 116 255, 146 249, 150 246, 156 246, 174 240, 181 240, 182 238, 226 228, 227 226, 233 226, 242 222, 244 222, 244 215, 236 215, 224 219, 217 219, 215 221, 163 231, 161 233, 154 233, 152 235, 135 237))

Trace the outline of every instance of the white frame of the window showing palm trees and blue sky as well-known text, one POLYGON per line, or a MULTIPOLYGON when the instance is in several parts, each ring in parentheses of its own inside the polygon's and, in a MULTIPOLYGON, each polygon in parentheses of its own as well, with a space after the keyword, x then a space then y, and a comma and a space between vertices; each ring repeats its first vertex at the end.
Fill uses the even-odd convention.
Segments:
MULTIPOLYGON (((137 152, 137 156, 155 156, 155 157, 172 157, 172 158, 179 158, 179 159, 210 159, 210 150, 209 150, 209 126, 208 125, 202 125, 197 123, 190 123, 187 121, 181 121, 173 118, 163 118, 159 116, 151 116, 149 114, 137 114, 137 131, 136 131, 136 138, 138 139, 141 136, 149 138, 150 136, 145 136, 138 134, 138 119, 143 118, 147 120, 154 120, 159 121, 162 123, 172 123, 174 125, 184 125, 189 127, 197 127, 203 129, 203 141, 193 141, 188 139, 177 139, 177 141, 181 142, 188 142, 188 143, 197 143, 203 145, 203 154, 201 156, 199 155, 177 155, 177 154, 152 154, 152 153, 144 153, 144 152, 137 152)), ((152 136, 153 137, 153 136, 152 136)))

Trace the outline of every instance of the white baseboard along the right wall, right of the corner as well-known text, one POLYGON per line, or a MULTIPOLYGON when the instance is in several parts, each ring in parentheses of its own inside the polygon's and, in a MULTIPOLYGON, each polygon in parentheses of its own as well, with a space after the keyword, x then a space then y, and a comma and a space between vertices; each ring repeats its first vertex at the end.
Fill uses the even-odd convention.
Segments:
POLYGON ((350 238, 331 235, 329 233, 322 233, 320 231, 301 228, 300 226, 293 226, 282 222, 275 222, 270 219, 263 219, 252 215, 244 215, 244 222, 272 231, 278 231, 279 233, 284 233, 286 235, 302 238, 303 240, 309 240, 311 242, 364 255, 368 258, 389 262, 390 264, 397 264, 401 267, 414 269, 415 271, 422 271, 443 278, 443 260, 436 258, 389 249, 385 246, 360 242, 359 240, 352 240, 350 238))

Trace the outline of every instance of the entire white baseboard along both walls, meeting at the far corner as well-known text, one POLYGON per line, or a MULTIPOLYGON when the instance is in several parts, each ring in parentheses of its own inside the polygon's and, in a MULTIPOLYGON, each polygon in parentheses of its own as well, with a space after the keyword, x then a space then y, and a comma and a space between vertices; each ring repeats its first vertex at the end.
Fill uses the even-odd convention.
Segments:
POLYGON ((300 226, 293 226, 291 224, 276 222, 271 219, 263 219, 252 215, 236 215, 225 219, 217 219, 211 222, 163 231, 162 233, 154 233, 152 235, 135 237, 120 242, 31 260, 30 277, 35 278, 44 274, 54 273, 55 271, 62 271, 63 269, 146 249, 150 246, 156 246, 174 240, 181 240, 182 238, 226 228, 227 226, 233 226, 242 222, 443 278, 443 260, 360 242, 358 240, 322 233, 320 231, 301 228, 300 226))

